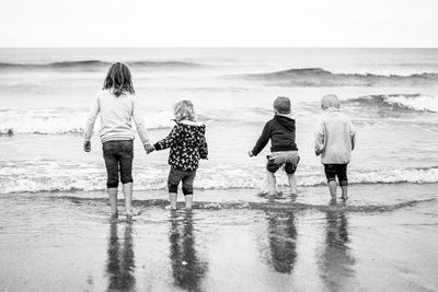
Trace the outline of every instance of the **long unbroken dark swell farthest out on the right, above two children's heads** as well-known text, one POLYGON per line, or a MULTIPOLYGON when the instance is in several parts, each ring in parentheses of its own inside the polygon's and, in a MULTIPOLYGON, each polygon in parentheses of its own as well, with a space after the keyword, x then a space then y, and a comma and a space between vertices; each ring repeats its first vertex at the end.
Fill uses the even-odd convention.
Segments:
POLYGON ((245 74, 245 79, 263 80, 279 86, 437 86, 438 73, 411 75, 379 75, 332 73, 322 68, 290 69, 260 74, 245 74))

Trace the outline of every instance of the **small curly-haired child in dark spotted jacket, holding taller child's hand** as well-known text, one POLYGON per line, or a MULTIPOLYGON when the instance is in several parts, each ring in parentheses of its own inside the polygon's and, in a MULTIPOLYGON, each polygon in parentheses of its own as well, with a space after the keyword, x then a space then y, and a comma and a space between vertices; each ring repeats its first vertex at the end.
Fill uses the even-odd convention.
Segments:
POLYGON ((173 112, 176 125, 166 138, 153 145, 153 149, 171 149, 169 153, 171 171, 168 179, 171 209, 176 210, 177 187, 180 182, 183 182, 185 208, 189 210, 193 203, 193 182, 199 159, 206 160, 208 155, 205 138, 206 127, 196 121, 195 109, 191 101, 176 103, 173 112))

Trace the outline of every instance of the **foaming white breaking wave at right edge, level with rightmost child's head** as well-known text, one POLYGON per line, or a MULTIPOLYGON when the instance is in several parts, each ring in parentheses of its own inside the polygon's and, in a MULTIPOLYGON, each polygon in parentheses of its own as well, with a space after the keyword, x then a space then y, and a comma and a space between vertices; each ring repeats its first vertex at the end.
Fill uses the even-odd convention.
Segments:
POLYGON ((423 94, 379 94, 348 100, 349 104, 379 106, 399 112, 438 113, 438 96, 423 94))

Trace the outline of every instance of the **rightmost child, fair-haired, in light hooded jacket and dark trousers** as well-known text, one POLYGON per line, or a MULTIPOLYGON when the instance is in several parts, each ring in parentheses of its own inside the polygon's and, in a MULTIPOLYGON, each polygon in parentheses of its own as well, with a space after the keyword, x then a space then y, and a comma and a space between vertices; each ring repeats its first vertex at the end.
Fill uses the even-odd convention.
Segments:
POLYGON ((348 198, 347 164, 355 149, 356 135, 349 118, 339 112, 339 100, 334 94, 322 97, 321 117, 315 132, 315 154, 321 154, 332 199, 336 199, 336 176, 342 189, 342 198, 348 198))

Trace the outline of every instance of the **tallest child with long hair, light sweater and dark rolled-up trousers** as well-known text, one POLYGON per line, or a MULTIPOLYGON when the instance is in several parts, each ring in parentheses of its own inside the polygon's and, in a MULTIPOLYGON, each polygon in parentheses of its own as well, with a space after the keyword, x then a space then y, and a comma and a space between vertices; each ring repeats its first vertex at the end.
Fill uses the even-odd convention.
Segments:
POLYGON ((90 138, 93 133, 94 121, 100 113, 100 136, 103 143, 103 156, 107 173, 106 187, 108 190, 111 213, 114 217, 117 215, 118 173, 120 173, 123 191, 125 194, 126 214, 132 214, 132 118, 145 150, 148 151, 152 148, 148 140, 140 106, 134 93, 129 68, 120 62, 112 65, 106 74, 102 92, 93 101, 84 130, 85 141, 83 149, 85 152, 90 152, 90 138))

